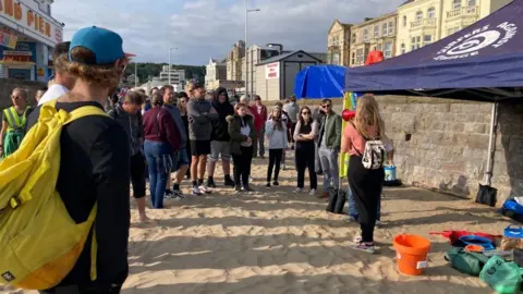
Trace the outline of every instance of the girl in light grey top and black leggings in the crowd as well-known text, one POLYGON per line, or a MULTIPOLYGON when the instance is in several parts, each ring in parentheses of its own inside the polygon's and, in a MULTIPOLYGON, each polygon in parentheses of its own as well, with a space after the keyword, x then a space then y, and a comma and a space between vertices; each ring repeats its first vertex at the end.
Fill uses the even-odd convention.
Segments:
POLYGON ((269 139, 269 167, 267 169, 267 187, 270 187, 272 169, 275 170, 275 180, 272 185, 279 186, 278 175, 280 174, 280 164, 283 152, 289 146, 287 136, 287 123, 281 119, 281 109, 275 107, 269 114, 269 120, 265 124, 265 134, 269 139))

